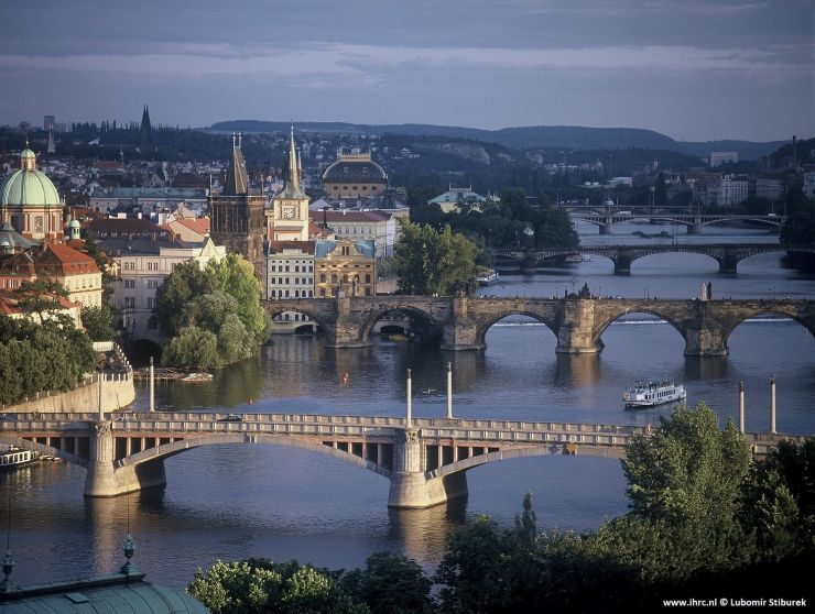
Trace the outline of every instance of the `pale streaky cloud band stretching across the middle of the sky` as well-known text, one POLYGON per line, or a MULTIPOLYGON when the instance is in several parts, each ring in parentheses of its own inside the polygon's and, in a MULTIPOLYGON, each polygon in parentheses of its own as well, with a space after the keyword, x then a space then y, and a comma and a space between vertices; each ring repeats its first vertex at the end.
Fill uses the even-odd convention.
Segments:
POLYGON ((374 85, 389 72, 411 66, 422 70, 483 67, 511 70, 808 70, 806 54, 790 48, 700 48, 687 45, 604 46, 584 48, 506 48, 472 46, 389 46, 355 44, 291 47, 183 44, 151 53, 74 54, 59 57, 0 54, 0 67, 59 72, 108 72, 151 77, 202 78, 256 75, 296 81, 314 77, 352 79, 374 85))

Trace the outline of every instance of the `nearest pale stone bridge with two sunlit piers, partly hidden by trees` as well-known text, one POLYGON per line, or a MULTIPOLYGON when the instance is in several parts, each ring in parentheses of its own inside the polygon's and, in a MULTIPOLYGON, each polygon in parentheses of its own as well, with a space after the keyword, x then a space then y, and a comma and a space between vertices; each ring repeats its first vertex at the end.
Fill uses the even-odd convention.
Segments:
MULTIPOLYGON (((108 415, 110 416, 110 415, 108 415)), ((164 459, 222 443, 272 443, 344 460, 390 480, 388 505, 430 507, 467 494, 466 472, 518 457, 588 454, 621 458, 649 427, 521 420, 414 419, 377 416, 148 413, 111 420, 97 414, 18 415, 0 423, 0 441, 53 454, 87 469, 86 496, 164 486, 164 459)), ((753 453, 781 439, 748 435, 753 453)))

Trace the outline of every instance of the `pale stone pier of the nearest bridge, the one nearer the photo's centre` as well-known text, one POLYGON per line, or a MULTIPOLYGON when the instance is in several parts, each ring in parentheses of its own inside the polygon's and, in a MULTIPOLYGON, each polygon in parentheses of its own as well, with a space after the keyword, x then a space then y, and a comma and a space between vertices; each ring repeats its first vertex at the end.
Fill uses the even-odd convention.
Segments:
POLYGON ((388 507, 421 509, 467 495, 464 471, 427 478, 422 470, 422 442, 419 429, 398 428, 393 445, 393 470, 388 507))

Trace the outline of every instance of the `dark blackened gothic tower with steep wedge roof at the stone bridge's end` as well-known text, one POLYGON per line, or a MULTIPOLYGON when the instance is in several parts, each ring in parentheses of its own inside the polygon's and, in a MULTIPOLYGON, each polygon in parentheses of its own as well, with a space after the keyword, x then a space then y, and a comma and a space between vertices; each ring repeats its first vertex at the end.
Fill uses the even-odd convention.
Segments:
POLYGON ((236 143, 232 136, 232 160, 227 167, 227 178, 219 195, 209 194, 210 237, 216 245, 225 245, 227 252, 238 252, 254 266, 261 282, 265 277, 263 253, 263 222, 265 198, 262 194, 249 193, 241 138, 236 143))

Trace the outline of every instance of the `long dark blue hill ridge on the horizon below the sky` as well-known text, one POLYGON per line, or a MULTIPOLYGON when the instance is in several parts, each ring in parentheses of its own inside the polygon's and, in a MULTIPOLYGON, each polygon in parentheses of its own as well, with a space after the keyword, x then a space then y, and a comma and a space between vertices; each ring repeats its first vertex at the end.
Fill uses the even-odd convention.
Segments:
MULTIPOLYGON (((214 123, 213 132, 286 132, 289 122, 260 120, 231 120, 214 123)), ((445 136, 471 139, 497 143, 515 150, 574 149, 574 150, 663 150, 706 157, 711 151, 738 152, 740 160, 757 160, 784 145, 786 141, 758 143, 752 141, 675 141, 665 134, 640 128, 585 128, 579 125, 532 125, 480 130, 455 125, 423 123, 363 124, 345 122, 298 122, 303 132, 343 132, 347 134, 404 134, 409 136, 445 136)))

